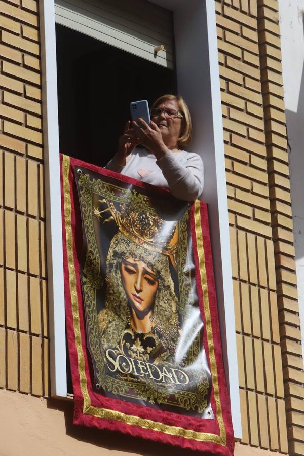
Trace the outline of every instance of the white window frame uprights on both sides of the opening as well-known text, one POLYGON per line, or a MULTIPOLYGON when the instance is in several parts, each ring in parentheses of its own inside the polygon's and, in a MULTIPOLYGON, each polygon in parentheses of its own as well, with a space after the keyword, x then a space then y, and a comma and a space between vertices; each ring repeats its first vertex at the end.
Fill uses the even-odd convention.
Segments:
MULTIPOLYGON (((155 0, 174 12, 177 85, 194 120, 192 150, 205 167, 223 361, 235 438, 242 437, 229 220, 214 0, 155 0), (191 24, 191 26, 189 25, 191 24), (206 58, 206 56, 208 56, 206 58), (207 90, 206 90, 207 88, 207 90), (207 152, 206 152, 207 151, 207 152)), ((54 0, 40 0, 51 394, 66 397, 66 348, 61 226, 54 0)))

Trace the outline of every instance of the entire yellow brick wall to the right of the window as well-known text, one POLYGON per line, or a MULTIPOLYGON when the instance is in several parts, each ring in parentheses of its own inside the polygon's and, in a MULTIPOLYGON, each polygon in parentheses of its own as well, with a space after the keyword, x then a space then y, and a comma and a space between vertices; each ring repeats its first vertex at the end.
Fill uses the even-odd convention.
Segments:
POLYGON ((304 430, 299 427, 304 426, 304 374, 278 2, 221 0, 215 8, 241 443, 304 454, 304 430))

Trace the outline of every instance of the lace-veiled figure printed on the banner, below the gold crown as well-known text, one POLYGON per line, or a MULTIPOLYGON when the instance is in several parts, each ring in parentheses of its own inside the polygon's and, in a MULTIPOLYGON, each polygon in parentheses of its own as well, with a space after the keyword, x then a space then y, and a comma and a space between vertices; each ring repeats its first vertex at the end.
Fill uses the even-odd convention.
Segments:
POLYGON ((101 346, 146 361, 173 357, 179 323, 168 257, 118 232, 107 255, 106 282, 105 308, 98 314, 101 346))

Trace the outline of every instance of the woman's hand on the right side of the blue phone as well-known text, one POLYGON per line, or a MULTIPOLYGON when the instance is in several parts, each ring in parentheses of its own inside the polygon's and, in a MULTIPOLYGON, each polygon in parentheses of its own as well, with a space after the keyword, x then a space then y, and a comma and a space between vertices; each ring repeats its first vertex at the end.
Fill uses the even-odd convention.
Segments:
POLYGON ((138 118, 143 127, 140 127, 135 121, 132 122, 132 127, 136 135, 137 144, 142 144, 149 149, 157 159, 160 159, 167 154, 168 148, 164 144, 162 132, 158 125, 153 121, 148 125, 143 119, 138 118))

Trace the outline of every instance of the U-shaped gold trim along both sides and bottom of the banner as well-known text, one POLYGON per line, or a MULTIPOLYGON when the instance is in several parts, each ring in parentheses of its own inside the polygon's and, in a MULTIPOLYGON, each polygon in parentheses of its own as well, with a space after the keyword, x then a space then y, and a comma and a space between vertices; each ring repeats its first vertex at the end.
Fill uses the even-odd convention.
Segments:
MULTIPOLYGON (((220 424, 220 436, 216 434, 210 434, 206 432, 197 432, 190 429, 180 428, 178 426, 169 426, 165 425, 164 423, 155 422, 153 420, 146 420, 134 415, 127 415, 117 410, 110 410, 107 408, 101 407, 94 407, 91 405, 91 399, 88 393, 88 383, 87 377, 85 373, 85 360, 84 360, 84 353, 82 349, 82 340, 81 340, 81 332, 80 332, 80 320, 79 320, 79 312, 78 312, 78 297, 77 297, 77 288, 76 288, 76 274, 75 274, 75 267, 74 267, 74 255, 73 255, 73 238, 72 238, 72 227, 71 227, 71 203, 70 203, 70 185, 69 185, 69 167, 70 167, 70 159, 67 156, 63 156, 62 160, 62 174, 63 174, 63 194, 64 194, 64 223, 65 223, 65 235, 66 235, 66 250, 67 250, 67 262, 68 262, 68 273, 69 273, 69 288, 70 288, 70 295, 71 295, 71 308, 72 308, 72 316, 73 316, 73 328, 75 334, 75 345, 77 348, 77 357, 78 357, 78 371, 80 375, 80 387, 81 392, 84 399, 84 407, 83 413, 90 414, 92 416, 108 419, 108 420, 117 420, 128 425, 140 426, 144 429, 150 429, 153 431, 163 432, 164 434, 169 435, 176 435, 183 437, 185 439, 192 439, 201 442, 212 442, 217 443, 219 445, 224 446, 225 440, 223 440, 223 433, 225 435, 225 429, 223 427, 222 416, 221 416, 221 407, 219 402, 219 397, 216 400, 216 413, 217 419, 220 424), (219 416, 220 412, 220 416, 219 416), (221 419, 221 421, 219 420, 221 419), (223 428, 223 429, 222 429, 223 428)), ((200 203, 198 202, 198 205, 200 203)), ((200 206, 198 206, 200 207, 200 206)), ((196 206, 197 209, 197 206, 196 206)), ((196 220, 196 235, 197 233, 197 225, 200 225, 200 211, 195 212, 196 218, 199 217, 199 221, 196 220), (198 215, 197 215, 198 212, 198 215)), ((199 243, 198 243, 199 245, 199 243)), ((202 242, 200 243, 202 246, 202 242)), ((203 260, 203 267, 205 267, 205 261, 203 260)), ((206 272, 204 277, 206 278, 206 272)), ((203 285, 203 277, 201 275, 202 285, 203 285)), ((207 282, 205 282, 205 289, 208 296, 207 290, 207 282)), ((205 294, 204 294, 205 298, 205 294)), ((205 304, 205 299, 204 299, 205 304)), ((206 306, 208 306, 209 311, 209 301, 207 299, 206 306)), ((206 308, 205 308, 206 312, 206 308)), ((210 322, 210 312, 209 312, 209 322, 210 322)), ((208 347, 209 353, 211 350, 210 344, 212 346, 212 330, 211 330, 211 339, 210 334, 208 335, 208 347)), ((213 362, 211 363, 211 372, 214 379, 216 379, 216 364, 212 346, 212 353, 213 353, 213 362), (213 372, 213 368, 215 368, 215 374, 213 372)), ((217 385, 217 382, 216 382, 217 385)), ((215 388, 214 388, 215 390, 215 388)), ((218 396, 218 385, 217 385, 217 396, 218 396)))

